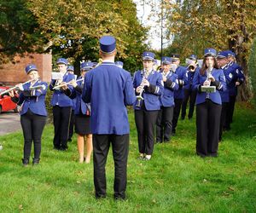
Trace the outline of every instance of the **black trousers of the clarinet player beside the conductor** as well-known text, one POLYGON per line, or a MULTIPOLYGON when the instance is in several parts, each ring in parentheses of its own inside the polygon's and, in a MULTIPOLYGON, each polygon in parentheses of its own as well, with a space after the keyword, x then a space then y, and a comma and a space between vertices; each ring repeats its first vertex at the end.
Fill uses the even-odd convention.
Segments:
POLYGON ((158 110, 135 110, 135 123, 137 127, 137 140, 139 153, 151 155, 154 150, 154 126, 158 110))

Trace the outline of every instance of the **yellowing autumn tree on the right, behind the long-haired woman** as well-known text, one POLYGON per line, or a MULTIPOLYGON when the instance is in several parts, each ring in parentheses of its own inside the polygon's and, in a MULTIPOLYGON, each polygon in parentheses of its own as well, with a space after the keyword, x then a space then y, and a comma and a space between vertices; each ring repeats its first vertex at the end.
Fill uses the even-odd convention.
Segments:
MULTIPOLYGON (((182 55, 202 55, 203 49, 232 49, 237 62, 247 72, 247 58, 255 37, 256 2, 239 0, 184 0, 166 1, 170 11, 169 35, 175 35, 172 49, 182 55), (181 45, 182 43, 182 45, 181 45)), ((242 85, 241 100, 251 97, 249 82, 242 85)))

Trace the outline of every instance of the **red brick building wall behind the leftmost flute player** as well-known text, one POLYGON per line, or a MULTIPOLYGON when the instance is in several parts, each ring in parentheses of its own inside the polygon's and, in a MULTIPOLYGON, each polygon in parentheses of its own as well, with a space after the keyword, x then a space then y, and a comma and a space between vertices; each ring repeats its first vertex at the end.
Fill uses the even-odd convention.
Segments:
POLYGON ((30 54, 20 58, 15 57, 15 64, 9 63, 0 66, 0 83, 6 85, 15 85, 20 82, 26 82, 27 76, 25 67, 28 64, 35 64, 41 80, 49 82, 52 70, 51 54, 30 54))

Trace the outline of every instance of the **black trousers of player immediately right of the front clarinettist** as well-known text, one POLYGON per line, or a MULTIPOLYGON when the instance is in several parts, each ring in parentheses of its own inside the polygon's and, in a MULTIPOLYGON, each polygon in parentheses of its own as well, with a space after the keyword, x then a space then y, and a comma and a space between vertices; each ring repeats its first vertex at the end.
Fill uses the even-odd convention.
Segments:
POLYGON ((156 121, 156 141, 170 141, 174 107, 161 107, 156 121))

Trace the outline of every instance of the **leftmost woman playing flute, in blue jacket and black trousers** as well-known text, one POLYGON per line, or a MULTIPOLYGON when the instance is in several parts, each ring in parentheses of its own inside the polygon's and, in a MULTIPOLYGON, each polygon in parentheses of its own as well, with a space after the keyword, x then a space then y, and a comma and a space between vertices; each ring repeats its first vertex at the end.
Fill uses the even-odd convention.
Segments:
POLYGON ((24 166, 29 164, 32 142, 34 144, 34 158, 32 164, 39 164, 41 154, 41 136, 46 124, 47 112, 45 108, 45 95, 47 83, 39 80, 38 68, 35 65, 26 66, 29 83, 18 84, 20 95, 17 97, 14 90, 9 93, 11 100, 20 106, 20 124, 24 137, 24 166))

